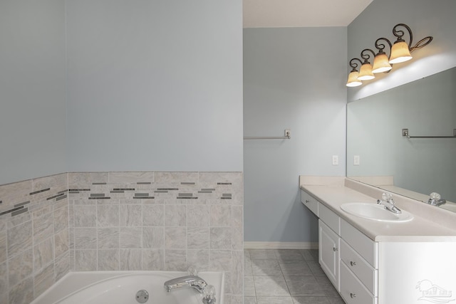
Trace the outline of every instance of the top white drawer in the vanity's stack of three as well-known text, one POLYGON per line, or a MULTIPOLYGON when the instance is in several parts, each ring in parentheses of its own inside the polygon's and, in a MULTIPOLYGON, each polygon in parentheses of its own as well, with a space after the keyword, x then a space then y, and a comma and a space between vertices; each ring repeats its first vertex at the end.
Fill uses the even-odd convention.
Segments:
POLYGON ((341 220, 341 237, 373 268, 378 269, 377 243, 344 220, 341 220))

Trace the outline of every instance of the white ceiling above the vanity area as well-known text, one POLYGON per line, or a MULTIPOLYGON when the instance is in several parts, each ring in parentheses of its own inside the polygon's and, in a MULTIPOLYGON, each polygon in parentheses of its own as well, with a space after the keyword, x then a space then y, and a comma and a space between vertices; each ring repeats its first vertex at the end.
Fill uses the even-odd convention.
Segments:
POLYGON ((244 28, 348 26, 373 0, 244 0, 244 28))

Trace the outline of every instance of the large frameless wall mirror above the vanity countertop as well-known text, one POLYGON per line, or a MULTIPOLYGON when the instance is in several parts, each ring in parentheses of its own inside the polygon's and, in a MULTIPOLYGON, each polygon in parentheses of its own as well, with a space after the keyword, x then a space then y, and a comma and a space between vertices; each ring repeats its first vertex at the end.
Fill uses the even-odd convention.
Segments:
POLYGON ((348 103, 347 177, 456 211, 455 129, 456 68, 348 103))

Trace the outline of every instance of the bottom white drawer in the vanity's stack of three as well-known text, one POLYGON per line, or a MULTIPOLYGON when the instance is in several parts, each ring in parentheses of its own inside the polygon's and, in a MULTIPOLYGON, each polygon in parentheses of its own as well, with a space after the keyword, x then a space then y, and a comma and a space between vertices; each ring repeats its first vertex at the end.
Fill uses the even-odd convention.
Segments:
POLYGON ((377 298, 341 263, 341 295, 347 304, 376 304, 377 298))

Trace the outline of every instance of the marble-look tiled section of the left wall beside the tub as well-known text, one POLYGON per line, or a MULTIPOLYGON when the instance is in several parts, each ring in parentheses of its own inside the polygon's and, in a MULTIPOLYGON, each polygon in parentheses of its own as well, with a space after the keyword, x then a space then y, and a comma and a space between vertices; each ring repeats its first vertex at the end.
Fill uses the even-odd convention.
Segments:
POLYGON ((30 303, 70 270, 67 176, 0 185, 0 209, 19 208, 0 216, 0 303, 30 303))

